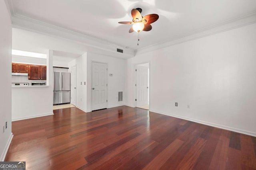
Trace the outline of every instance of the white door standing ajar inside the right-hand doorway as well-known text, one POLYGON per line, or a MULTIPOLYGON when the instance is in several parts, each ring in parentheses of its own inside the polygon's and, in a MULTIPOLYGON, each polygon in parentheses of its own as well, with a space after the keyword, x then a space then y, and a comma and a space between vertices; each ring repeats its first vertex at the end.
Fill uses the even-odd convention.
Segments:
POLYGON ((136 71, 136 106, 148 104, 148 67, 137 65, 136 71))

